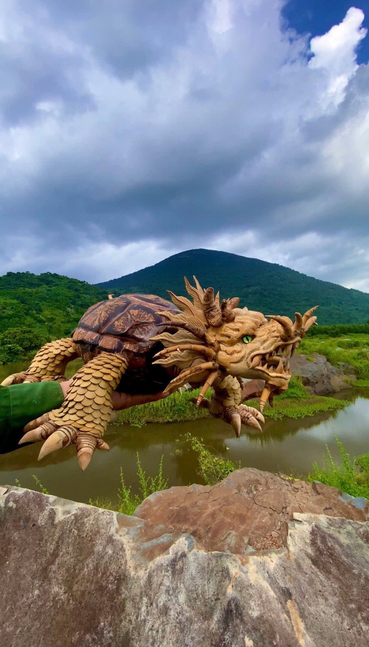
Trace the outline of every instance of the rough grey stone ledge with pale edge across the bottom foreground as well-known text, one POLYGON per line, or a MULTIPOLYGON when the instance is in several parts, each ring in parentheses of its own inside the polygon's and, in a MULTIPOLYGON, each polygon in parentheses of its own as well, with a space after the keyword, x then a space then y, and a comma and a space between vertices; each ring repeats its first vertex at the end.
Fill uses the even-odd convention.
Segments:
POLYGON ((166 523, 5 487, 1 647, 366 646, 368 523, 292 516, 285 546, 225 553, 166 523))

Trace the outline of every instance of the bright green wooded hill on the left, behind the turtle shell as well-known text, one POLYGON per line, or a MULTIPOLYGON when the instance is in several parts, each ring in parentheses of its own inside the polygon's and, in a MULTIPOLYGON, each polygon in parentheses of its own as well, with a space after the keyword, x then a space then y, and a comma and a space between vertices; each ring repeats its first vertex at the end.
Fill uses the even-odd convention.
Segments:
POLYGON ((45 272, 0 277, 0 363, 17 362, 52 339, 67 336, 106 292, 84 281, 45 272))

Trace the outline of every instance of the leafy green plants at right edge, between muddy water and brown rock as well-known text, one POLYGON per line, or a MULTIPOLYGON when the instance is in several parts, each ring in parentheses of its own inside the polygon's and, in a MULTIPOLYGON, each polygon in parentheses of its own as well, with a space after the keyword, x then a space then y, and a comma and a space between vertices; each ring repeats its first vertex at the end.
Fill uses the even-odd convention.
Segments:
POLYGON ((364 496, 369 499, 369 454, 352 459, 339 439, 336 439, 341 455, 342 465, 336 465, 330 450, 326 446, 323 466, 313 464, 313 471, 307 475, 307 481, 320 481, 337 487, 341 492, 352 496, 364 496), (358 471, 359 470, 359 471, 358 471))

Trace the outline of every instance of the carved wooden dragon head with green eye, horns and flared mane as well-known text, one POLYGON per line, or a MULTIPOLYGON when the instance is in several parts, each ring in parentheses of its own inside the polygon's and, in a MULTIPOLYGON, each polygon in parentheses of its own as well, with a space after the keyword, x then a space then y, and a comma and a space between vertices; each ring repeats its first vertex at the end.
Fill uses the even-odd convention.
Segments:
MULTIPOLYGON (((222 386, 222 380, 227 376, 238 380, 240 388, 241 378, 259 378, 265 380, 260 399, 262 411, 268 399, 287 389, 291 378, 289 358, 316 322, 317 317, 313 313, 317 306, 304 315, 295 313, 293 322, 287 316, 264 316, 239 308, 239 298, 220 302, 219 293, 214 296, 212 287, 203 290, 196 277, 194 281, 196 287, 185 278, 186 290, 193 303, 169 292, 172 302, 182 313, 160 313, 177 328, 177 332, 155 337, 165 347, 157 354, 156 361, 163 366, 181 369, 167 390, 174 391, 185 382, 200 382, 203 384, 197 399, 197 404, 200 404, 210 384, 215 391, 218 390, 219 400, 219 392, 222 389, 227 391, 224 384, 222 386)), ((227 384, 230 383, 228 380, 227 384)), ((236 401, 235 406, 238 406, 236 401)))

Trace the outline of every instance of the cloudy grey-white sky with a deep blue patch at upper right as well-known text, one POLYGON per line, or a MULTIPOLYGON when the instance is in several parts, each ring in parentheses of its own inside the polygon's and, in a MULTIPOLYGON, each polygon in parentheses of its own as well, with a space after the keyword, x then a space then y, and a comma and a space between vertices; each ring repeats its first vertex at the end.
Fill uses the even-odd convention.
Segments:
POLYGON ((368 0, 6 0, 0 273, 188 248, 369 292, 368 0))

